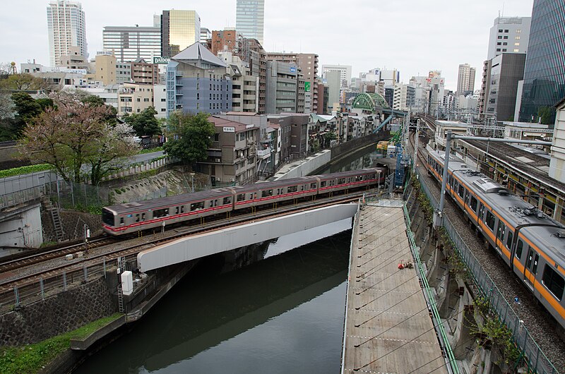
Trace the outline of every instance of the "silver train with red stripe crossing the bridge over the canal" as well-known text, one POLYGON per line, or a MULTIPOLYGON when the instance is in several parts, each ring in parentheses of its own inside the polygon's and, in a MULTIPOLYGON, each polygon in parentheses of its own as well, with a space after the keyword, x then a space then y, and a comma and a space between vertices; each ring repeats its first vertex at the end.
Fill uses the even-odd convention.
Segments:
POLYGON ((129 234, 225 212, 384 186, 388 167, 283 179, 249 186, 215 188, 102 208, 102 229, 129 234))

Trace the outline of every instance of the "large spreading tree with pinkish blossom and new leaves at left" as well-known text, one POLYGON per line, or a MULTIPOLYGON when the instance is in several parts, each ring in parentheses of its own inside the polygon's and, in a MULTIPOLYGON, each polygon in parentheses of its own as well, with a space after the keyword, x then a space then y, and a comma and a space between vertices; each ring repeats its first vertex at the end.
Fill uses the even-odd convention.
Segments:
POLYGON ((137 152, 133 130, 108 121, 112 110, 106 105, 86 104, 76 92, 59 93, 53 100, 54 107, 25 128, 20 141, 23 157, 51 164, 65 181, 80 183, 90 174, 96 184, 121 168, 123 157, 137 152))

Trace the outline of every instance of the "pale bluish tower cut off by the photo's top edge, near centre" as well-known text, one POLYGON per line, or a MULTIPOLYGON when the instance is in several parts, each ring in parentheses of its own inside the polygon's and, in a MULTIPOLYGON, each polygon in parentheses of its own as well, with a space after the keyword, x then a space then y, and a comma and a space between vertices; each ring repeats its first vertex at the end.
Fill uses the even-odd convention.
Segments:
POLYGON ((237 0, 235 28, 238 34, 263 44, 265 0, 237 0))

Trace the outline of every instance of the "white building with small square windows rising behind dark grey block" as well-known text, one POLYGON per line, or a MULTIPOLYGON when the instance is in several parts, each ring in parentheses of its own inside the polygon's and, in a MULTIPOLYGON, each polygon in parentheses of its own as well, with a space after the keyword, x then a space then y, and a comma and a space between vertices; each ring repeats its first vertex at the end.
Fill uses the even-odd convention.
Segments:
POLYGON ((496 17, 494 26, 490 28, 489 52, 490 60, 504 52, 528 52, 531 17, 496 17))

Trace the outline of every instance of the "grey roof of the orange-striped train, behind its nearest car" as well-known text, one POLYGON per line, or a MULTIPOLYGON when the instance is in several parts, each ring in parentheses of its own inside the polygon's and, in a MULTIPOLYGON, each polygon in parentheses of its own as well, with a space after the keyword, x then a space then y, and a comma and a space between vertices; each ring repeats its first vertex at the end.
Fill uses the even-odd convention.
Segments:
MULTIPOLYGON (((433 153, 436 158, 444 162, 445 152, 433 151, 433 153)), ((546 224, 561 227, 559 222, 545 215, 537 207, 525 202, 518 195, 514 195, 500 183, 493 181, 480 171, 471 169, 459 157, 451 155, 448 167, 454 176, 469 186, 475 195, 491 206, 513 227, 527 224, 546 224)))

